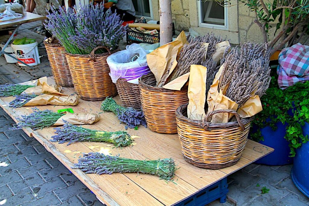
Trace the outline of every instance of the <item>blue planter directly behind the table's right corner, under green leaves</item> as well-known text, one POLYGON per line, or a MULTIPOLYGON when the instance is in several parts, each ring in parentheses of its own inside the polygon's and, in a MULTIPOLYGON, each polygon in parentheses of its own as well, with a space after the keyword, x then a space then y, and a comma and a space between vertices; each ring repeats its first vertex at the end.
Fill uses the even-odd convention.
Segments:
MULTIPOLYGON (((254 163, 270 166, 288 165, 293 163, 293 158, 289 157, 289 142, 284 139, 284 136, 286 135, 287 124, 278 122, 276 126, 276 131, 273 131, 273 129, 269 126, 260 129, 261 134, 264 137, 264 141, 260 141, 259 143, 272 147, 275 149, 275 151, 254 163)), ((252 130, 254 132, 256 128, 253 126, 252 130)))

